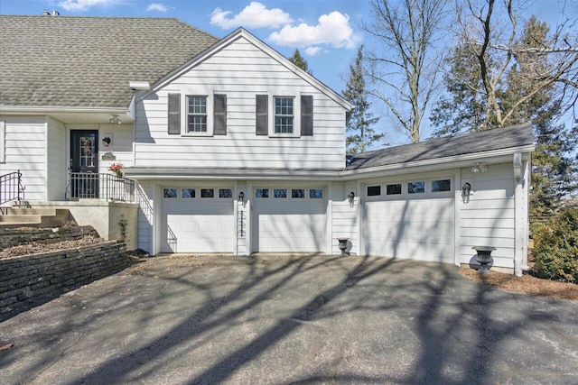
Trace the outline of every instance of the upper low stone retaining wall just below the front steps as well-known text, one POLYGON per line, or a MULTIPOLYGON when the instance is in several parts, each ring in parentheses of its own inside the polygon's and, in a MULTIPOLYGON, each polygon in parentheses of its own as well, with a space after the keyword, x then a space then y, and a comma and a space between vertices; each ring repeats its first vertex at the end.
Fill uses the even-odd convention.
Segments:
POLYGON ((98 236, 92 226, 0 229, 0 251, 24 243, 55 243, 79 239, 85 235, 98 236))

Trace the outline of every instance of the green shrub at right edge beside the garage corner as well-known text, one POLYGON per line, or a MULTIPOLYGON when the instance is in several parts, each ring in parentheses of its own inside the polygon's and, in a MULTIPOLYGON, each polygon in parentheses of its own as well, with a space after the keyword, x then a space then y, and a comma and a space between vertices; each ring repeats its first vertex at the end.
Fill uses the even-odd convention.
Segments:
POLYGON ((578 208, 562 209, 549 226, 533 231, 537 275, 578 283, 578 208))

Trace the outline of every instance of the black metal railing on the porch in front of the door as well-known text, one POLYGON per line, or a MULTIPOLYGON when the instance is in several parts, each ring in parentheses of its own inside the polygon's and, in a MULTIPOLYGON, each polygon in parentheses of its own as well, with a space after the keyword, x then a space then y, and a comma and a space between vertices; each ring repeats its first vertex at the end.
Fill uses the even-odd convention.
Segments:
POLYGON ((135 202, 135 180, 112 174, 70 172, 67 199, 104 199, 135 202))

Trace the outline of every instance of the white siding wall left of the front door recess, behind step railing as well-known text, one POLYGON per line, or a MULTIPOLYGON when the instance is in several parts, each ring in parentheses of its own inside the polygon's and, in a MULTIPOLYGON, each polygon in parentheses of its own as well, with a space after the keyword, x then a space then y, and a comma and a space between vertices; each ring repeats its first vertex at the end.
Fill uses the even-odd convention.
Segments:
POLYGON ((43 116, 0 116, 5 122, 5 163, 0 174, 21 170, 26 200, 45 200, 47 152, 43 116))

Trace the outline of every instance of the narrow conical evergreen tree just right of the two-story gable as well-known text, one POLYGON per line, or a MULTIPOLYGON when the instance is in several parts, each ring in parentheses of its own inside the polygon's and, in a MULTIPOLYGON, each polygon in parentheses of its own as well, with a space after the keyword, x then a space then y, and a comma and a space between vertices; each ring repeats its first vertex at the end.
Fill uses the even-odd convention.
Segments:
POLYGON ((350 79, 343 96, 351 103, 351 113, 347 117, 347 150, 357 153, 367 151, 368 147, 379 142, 384 134, 376 133, 372 128, 379 118, 369 112, 368 91, 363 77, 363 46, 359 47, 355 64, 350 64, 350 79))

